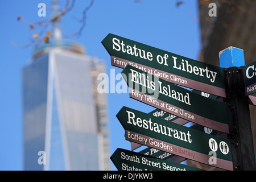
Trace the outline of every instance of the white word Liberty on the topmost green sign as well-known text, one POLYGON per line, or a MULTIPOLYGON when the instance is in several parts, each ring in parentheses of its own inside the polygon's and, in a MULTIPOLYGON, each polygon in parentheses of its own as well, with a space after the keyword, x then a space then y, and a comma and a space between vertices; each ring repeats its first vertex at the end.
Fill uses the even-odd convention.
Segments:
POLYGON ((200 68, 200 67, 196 67, 196 66, 192 67, 192 65, 189 64, 187 60, 183 60, 183 59, 181 60, 181 64, 177 65, 177 63, 176 63, 177 57, 172 56, 172 58, 174 59, 174 67, 173 68, 179 69, 184 72, 193 73, 194 75, 199 75, 201 77, 206 76, 207 78, 210 79, 211 82, 215 81, 217 72, 210 71, 208 69, 208 67, 206 67, 206 68, 200 68))

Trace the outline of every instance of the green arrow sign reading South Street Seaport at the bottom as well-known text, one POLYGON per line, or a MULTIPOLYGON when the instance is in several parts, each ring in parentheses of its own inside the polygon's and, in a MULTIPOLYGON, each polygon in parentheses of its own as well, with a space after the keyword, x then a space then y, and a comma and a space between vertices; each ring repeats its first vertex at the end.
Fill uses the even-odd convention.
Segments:
MULTIPOLYGON (((201 171, 203 169, 186 166, 168 160, 151 158, 122 148, 117 148, 110 157, 118 171, 201 171)), ((148 176, 150 177, 150 176, 148 176)))

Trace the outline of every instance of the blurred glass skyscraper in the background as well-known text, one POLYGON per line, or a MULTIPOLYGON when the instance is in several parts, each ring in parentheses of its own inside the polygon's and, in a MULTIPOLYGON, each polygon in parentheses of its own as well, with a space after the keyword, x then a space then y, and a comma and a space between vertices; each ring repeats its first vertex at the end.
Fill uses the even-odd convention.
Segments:
POLYGON ((104 69, 77 43, 35 50, 22 72, 25 170, 110 169, 106 96, 97 92, 104 69))

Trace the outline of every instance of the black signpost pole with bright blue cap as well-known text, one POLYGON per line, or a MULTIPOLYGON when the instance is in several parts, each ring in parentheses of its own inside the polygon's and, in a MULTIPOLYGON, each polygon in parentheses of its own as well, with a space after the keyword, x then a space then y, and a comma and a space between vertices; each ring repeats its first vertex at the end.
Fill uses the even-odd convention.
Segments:
POLYGON ((232 143, 234 170, 256 170, 251 132, 249 101, 245 96, 243 50, 229 47, 220 51, 220 67, 224 69, 226 98, 228 106, 229 132, 232 143))

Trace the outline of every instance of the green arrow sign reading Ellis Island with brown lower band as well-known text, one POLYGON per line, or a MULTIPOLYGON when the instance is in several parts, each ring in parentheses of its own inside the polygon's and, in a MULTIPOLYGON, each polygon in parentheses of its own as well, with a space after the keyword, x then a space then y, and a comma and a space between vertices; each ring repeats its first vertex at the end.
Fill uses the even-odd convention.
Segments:
POLYGON ((229 133, 226 104, 127 65, 121 72, 135 100, 174 114, 188 121, 229 133))

